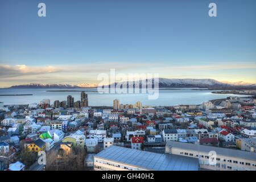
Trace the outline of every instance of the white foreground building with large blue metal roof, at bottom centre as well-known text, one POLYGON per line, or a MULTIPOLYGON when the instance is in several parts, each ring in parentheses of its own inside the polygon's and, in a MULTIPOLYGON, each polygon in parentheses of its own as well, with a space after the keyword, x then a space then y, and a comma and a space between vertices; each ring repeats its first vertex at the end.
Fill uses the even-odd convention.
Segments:
POLYGON ((186 156, 110 146, 94 156, 94 170, 198 171, 199 160, 186 156))

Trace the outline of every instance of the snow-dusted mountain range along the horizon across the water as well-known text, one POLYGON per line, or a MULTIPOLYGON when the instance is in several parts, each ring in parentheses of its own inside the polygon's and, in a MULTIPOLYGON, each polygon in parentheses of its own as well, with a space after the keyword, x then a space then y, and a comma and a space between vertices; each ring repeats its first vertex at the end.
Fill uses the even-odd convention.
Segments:
MULTIPOLYGON (((154 78, 148 79, 154 83, 154 78)), ((158 80, 159 88, 256 88, 256 84, 250 84, 247 82, 220 82, 213 79, 174 79, 174 78, 159 78, 158 80)), ((115 85, 118 82, 113 83, 115 85)), ((113 85, 110 84, 110 85, 113 85)), ((125 84, 125 82, 119 82, 119 84, 125 84)), ((129 84, 134 85, 133 82, 129 84)), ((108 85, 108 86, 110 86, 108 85)), ((139 82, 141 86, 141 81, 139 82)), ((154 84, 153 84, 154 86, 154 84)), ((97 84, 78 84, 78 85, 69 85, 69 84, 25 84, 25 85, 14 85, 10 88, 96 88, 97 84)))

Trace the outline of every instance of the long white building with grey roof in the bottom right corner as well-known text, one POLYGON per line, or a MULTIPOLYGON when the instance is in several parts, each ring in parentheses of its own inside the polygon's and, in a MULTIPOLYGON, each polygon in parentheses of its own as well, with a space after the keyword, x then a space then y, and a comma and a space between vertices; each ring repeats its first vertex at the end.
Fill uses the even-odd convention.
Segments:
POLYGON ((255 171, 256 152, 199 144, 167 141, 166 153, 199 159, 200 168, 216 171, 255 171), (216 164, 209 162, 209 152, 216 152, 216 164))

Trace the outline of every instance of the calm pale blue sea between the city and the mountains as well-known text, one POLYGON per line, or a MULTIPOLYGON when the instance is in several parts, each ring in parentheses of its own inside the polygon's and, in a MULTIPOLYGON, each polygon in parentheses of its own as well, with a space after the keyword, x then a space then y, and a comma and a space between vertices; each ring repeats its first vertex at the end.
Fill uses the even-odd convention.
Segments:
POLYGON ((179 104, 201 104, 201 102, 226 98, 229 96, 246 97, 236 94, 213 94, 212 90, 195 90, 195 89, 172 89, 159 90, 157 100, 148 100, 148 94, 100 94, 97 89, 0 89, 0 95, 3 94, 32 94, 32 96, 0 96, 0 102, 5 105, 32 104, 38 103, 43 99, 67 100, 68 95, 75 97, 75 101, 80 100, 81 90, 88 93, 89 106, 112 106, 115 98, 119 99, 120 104, 135 104, 141 101, 142 105, 152 106, 173 106, 179 104), (58 90, 59 92, 46 92, 47 90, 58 90), (68 92, 61 92, 68 90, 68 92))

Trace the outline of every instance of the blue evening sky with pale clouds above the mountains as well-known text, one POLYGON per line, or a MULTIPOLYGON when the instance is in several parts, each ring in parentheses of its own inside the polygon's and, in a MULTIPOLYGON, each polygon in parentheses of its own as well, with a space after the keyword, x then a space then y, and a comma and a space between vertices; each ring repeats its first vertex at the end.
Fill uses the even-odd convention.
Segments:
POLYGON ((0 87, 159 73, 256 83, 255 0, 0 1, 0 87), (46 4, 46 17, 38 4, 46 4), (217 17, 208 15, 209 3, 217 17))

